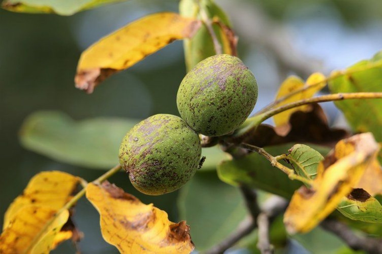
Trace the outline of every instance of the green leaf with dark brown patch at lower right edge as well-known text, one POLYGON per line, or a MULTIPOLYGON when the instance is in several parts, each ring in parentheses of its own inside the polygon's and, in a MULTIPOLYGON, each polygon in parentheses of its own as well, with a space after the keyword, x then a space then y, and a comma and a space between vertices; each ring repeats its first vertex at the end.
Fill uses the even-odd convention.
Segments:
POLYGON ((337 210, 352 220, 382 223, 382 206, 363 189, 354 189, 338 204, 337 210))

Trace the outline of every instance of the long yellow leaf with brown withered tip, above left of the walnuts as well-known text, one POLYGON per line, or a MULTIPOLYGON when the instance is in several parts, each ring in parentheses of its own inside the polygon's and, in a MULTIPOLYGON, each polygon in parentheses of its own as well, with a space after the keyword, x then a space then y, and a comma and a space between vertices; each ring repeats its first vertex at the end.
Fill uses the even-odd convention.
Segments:
POLYGON ((95 85, 127 69, 174 40, 191 37, 200 21, 177 13, 148 15, 107 35, 84 51, 79 59, 76 87, 92 93, 95 85))

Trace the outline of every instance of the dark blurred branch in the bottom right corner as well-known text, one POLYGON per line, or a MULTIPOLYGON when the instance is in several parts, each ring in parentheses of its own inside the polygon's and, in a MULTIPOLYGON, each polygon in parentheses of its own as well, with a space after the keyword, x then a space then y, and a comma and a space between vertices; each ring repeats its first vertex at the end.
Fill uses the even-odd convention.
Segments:
POLYGON ((354 250, 363 250, 367 253, 382 253, 382 240, 356 235, 351 228, 333 219, 326 219, 321 222, 322 228, 330 231, 341 238, 354 250))

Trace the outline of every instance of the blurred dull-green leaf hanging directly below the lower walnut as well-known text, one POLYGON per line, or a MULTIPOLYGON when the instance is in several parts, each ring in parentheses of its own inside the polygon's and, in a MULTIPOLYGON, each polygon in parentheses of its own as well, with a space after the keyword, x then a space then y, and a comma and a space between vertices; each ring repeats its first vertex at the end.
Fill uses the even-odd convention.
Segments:
POLYGON ((178 207, 180 219, 191 225, 197 251, 224 240, 247 214, 238 188, 221 182, 213 171, 197 172, 181 189, 178 207))

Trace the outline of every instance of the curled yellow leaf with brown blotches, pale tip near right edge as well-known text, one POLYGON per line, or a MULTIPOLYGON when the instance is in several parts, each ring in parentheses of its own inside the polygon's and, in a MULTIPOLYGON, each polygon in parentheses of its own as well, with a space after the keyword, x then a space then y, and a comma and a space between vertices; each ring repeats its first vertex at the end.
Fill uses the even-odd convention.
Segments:
POLYGON ((292 196, 284 215, 290 233, 307 232, 329 215, 373 162, 379 145, 371 133, 341 140, 317 169, 312 188, 302 186, 292 196))

